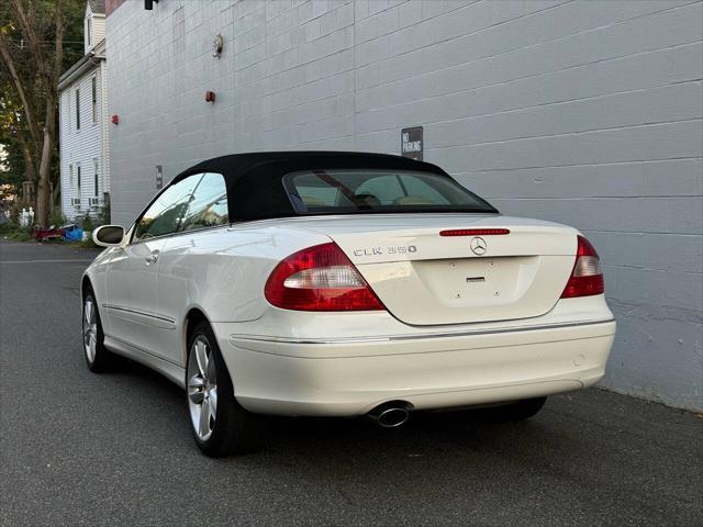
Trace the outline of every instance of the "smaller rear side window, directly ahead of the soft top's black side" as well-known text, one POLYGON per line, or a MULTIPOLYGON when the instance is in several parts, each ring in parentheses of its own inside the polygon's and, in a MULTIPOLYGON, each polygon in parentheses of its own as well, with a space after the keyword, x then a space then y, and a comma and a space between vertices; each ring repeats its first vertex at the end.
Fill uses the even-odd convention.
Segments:
POLYGON ((205 173, 188 206, 180 231, 215 227, 230 223, 227 188, 221 173, 205 173))

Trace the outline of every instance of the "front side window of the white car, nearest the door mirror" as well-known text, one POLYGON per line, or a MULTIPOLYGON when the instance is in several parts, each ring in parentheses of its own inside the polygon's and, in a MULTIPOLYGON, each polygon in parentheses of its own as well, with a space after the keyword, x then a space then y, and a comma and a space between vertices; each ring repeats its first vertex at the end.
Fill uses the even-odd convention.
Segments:
POLYGON ((133 242, 178 231, 202 173, 188 176, 168 186, 137 221, 133 242))

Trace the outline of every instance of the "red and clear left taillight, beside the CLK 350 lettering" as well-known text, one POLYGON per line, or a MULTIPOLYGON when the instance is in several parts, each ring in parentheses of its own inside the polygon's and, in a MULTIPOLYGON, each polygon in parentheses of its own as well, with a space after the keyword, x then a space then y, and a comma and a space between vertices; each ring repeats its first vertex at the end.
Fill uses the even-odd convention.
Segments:
POLYGON ((300 250, 279 262, 264 294, 295 311, 376 311, 383 304, 335 243, 300 250))

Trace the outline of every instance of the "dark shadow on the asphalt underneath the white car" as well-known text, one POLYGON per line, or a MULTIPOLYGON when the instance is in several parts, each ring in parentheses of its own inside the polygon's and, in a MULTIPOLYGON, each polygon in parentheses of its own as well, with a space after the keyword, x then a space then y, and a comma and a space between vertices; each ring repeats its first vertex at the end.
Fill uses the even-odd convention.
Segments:
MULTIPOLYGON (((160 415, 169 414, 172 423, 171 448, 199 452, 190 437, 190 423, 183 391, 153 370, 129 359, 120 358, 112 375, 141 386, 149 405, 160 415), (146 393, 148 392, 148 393, 146 393), (176 427, 180 431, 174 436, 176 427), (177 447, 178 448, 178 447, 177 447)), ((579 444, 571 428, 565 429, 559 415, 548 402, 540 414, 525 422, 487 423, 479 412, 413 412, 409 422, 398 428, 382 428, 368 417, 278 417, 261 416, 263 448, 252 455, 219 460, 223 463, 288 463, 306 467, 313 473, 325 471, 330 463, 339 466, 354 461, 354 470, 366 466, 369 472, 392 471, 408 462, 434 463, 450 468, 457 457, 472 462, 513 459, 540 463, 539 458, 562 452, 578 453, 585 446, 579 444), (304 460, 301 464, 301 460, 304 460)), ((559 402, 555 406, 561 406, 559 402)))

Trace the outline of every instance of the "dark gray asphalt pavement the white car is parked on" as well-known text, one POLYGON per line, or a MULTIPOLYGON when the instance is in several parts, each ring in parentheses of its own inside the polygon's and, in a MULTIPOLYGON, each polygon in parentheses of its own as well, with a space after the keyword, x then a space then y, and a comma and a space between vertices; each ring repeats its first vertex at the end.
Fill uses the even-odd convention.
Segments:
POLYGON ((264 451, 208 459, 179 389, 85 367, 92 256, 0 240, 3 526, 703 525, 703 419, 598 390, 520 424, 270 419, 264 451))

